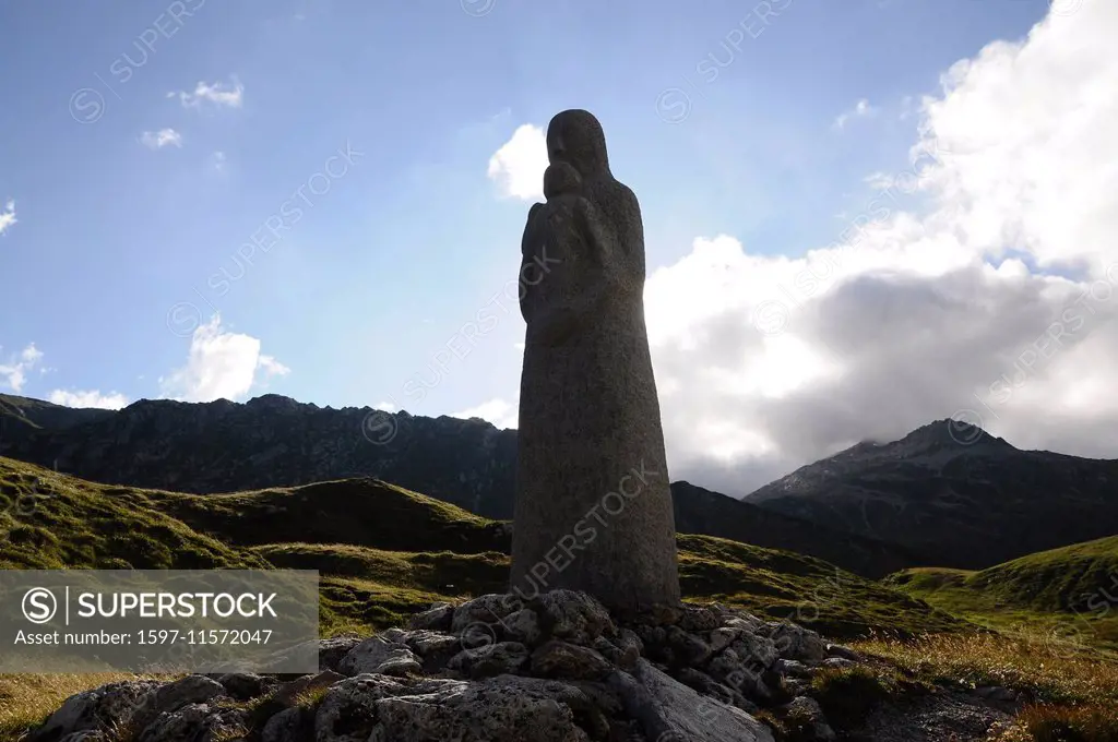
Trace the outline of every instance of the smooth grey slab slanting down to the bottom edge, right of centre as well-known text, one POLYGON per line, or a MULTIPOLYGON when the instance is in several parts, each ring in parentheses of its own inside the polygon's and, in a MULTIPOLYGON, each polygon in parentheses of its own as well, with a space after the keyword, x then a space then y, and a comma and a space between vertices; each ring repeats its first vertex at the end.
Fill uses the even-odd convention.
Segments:
POLYGON ((626 712, 656 742, 774 742, 768 727, 733 706, 705 698, 641 660, 609 678, 626 712))

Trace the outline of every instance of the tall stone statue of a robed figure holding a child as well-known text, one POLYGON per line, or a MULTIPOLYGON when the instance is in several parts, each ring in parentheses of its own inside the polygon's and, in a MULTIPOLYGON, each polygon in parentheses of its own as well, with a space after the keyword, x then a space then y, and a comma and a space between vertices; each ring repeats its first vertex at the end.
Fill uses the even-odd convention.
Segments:
POLYGON ((675 524, 644 322, 641 208, 609 172, 591 114, 558 114, 547 142, 547 203, 530 209, 521 244, 528 331, 512 588, 522 599, 585 590, 622 613, 674 606, 675 524))

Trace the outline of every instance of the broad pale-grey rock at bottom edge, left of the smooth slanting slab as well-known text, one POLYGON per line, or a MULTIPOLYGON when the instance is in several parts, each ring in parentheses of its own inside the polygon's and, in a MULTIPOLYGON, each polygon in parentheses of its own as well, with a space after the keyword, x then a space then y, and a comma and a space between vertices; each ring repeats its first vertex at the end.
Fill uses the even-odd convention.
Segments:
POLYGON ((571 711, 578 701, 588 702, 577 688, 558 682, 512 676, 477 684, 432 681, 410 694, 378 701, 377 733, 392 742, 588 742, 571 711))

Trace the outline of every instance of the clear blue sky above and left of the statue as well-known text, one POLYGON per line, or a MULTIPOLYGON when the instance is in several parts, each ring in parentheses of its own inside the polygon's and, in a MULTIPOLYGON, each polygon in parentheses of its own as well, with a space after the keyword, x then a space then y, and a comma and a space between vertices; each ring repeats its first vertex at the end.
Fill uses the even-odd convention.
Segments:
POLYGON ((1045 0, 0 4, 0 390, 22 369, 19 391, 40 398, 266 390, 420 415, 514 401, 523 323, 508 299, 421 399, 402 388, 432 378, 433 356, 515 276, 532 199, 503 193, 489 165, 520 126, 567 107, 598 115, 642 202, 650 276, 717 235, 795 259, 836 239, 872 173, 906 165, 922 96, 944 95, 953 64, 1022 42, 1048 12, 1045 0), (246 266, 237 250, 277 217, 282 238, 246 266))

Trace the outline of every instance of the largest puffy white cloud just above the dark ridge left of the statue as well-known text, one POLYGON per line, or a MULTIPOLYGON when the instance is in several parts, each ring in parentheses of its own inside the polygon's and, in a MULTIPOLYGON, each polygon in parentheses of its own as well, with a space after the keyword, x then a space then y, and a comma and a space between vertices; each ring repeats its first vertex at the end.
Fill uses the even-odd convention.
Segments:
POLYGON ((187 402, 239 401, 272 377, 290 369, 260 353, 260 341, 221 327, 219 315, 199 326, 190 340, 187 363, 160 378, 164 397, 187 402))

